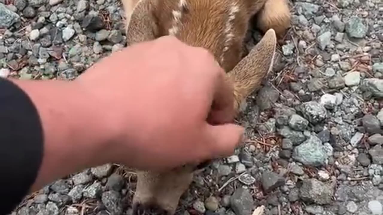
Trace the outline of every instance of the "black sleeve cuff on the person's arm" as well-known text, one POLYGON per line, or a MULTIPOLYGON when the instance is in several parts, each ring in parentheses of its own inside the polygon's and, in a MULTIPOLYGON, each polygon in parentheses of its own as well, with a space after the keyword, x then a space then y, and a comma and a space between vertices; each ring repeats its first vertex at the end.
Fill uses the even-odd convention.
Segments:
POLYGON ((6 215, 28 194, 43 158, 43 129, 28 95, 0 78, 0 214, 6 215))

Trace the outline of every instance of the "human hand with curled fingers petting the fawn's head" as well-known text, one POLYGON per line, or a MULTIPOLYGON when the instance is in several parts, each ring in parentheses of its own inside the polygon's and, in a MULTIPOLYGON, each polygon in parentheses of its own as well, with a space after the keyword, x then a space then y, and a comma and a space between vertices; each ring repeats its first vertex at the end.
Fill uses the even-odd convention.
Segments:
POLYGON ((175 37, 115 52, 74 82, 108 116, 101 123, 113 143, 105 153, 115 162, 172 168, 231 155, 241 141, 243 128, 230 124, 234 98, 223 69, 207 50, 175 37))

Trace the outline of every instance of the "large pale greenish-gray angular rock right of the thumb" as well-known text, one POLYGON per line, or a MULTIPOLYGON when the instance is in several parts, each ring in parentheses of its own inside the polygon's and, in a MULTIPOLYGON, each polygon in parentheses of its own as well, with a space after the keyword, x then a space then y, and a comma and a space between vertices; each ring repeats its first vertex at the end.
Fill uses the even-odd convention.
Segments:
POLYGON ((327 153, 322 141, 315 135, 311 135, 301 145, 293 150, 293 159, 309 166, 326 165, 327 153))

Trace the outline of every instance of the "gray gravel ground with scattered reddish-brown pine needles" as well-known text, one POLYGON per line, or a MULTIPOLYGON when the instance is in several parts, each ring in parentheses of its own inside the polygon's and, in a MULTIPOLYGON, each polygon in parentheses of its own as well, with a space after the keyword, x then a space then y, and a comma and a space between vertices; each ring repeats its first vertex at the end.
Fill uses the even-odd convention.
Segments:
MULTIPOLYGON (((291 6, 274 73, 238 117, 246 144, 195 176, 177 214, 382 214, 383 2, 291 6)), ((125 45, 123 14, 117 0, 0 0, 0 76, 75 78, 125 45)), ((12 214, 131 214, 135 180, 86 169, 12 214)))

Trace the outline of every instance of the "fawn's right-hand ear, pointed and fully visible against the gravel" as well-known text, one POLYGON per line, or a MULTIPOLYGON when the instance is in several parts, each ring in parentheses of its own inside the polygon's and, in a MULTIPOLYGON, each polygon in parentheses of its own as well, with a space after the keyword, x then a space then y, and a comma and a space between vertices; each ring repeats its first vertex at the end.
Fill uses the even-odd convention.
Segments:
POLYGON ((272 70, 276 46, 275 31, 269 29, 249 54, 227 73, 234 86, 236 110, 249 94, 259 90, 264 77, 272 70))

